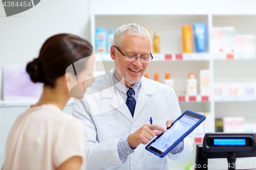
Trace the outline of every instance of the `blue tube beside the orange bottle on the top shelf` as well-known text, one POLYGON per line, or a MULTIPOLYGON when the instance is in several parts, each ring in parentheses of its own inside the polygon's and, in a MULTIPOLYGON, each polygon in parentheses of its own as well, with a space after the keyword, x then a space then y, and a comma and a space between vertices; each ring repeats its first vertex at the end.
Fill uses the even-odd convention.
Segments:
POLYGON ((196 51, 198 53, 205 52, 206 46, 206 23, 194 23, 194 37, 196 44, 196 51))

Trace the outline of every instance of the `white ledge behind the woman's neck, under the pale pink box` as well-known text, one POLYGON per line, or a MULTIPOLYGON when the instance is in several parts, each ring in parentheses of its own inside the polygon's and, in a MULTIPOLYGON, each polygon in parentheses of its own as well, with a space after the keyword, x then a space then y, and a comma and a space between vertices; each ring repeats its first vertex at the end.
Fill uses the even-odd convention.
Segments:
MULTIPOLYGON (((71 106, 74 104, 75 98, 70 98, 70 100, 67 102, 66 106, 71 106)), ((38 100, 0 100, 0 108, 4 107, 28 107, 30 105, 33 105, 37 103, 38 100)))

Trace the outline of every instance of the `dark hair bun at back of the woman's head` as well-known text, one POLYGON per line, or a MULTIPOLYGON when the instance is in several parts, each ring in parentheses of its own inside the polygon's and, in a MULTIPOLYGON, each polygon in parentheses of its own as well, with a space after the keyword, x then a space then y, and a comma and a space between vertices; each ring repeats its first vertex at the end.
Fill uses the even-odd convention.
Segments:
POLYGON ((42 66, 38 58, 35 58, 33 61, 28 63, 27 72, 32 82, 44 83, 44 74, 42 72, 42 66))

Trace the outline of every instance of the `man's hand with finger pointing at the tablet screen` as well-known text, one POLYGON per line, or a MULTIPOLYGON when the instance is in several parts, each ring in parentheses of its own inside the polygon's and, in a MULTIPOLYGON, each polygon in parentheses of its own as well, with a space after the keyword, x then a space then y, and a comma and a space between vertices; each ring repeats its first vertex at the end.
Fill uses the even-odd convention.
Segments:
POLYGON ((128 136, 127 142, 130 147, 138 147, 140 143, 147 144, 153 137, 165 131, 165 128, 158 125, 143 125, 136 132, 128 136))

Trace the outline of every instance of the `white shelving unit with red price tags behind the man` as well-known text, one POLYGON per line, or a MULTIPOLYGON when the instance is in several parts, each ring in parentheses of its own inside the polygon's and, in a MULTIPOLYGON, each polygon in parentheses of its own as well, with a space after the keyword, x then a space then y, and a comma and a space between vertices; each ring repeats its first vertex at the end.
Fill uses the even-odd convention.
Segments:
MULTIPOLYGON (((196 79, 198 80, 198 90, 199 90, 199 71, 200 69, 209 69, 210 70, 210 85, 211 93, 208 97, 208 101, 200 100, 200 95, 196 96, 196 99, 189 100, 186 96, 185 100, 180 100, 181 110, 189 110, 189 108, 194 109, 198 112, 210 112, 212 118, 211 124, 212 129, 215 130, 215 118, 220 118, 223 116, 229 116, 229 114, 219 114, 215 112, 217 109, 220 112, 221 108, 219 106, 225 105, 226 103, 234 102, 234 105, 238 102, 249 102, 255 103, 255 96, 239 96, 237 98, 223 98, 218 99, 214 98, 213 86, 216 82, 236 82, 236 76, 231 76, 233 80, 228 77, 225 77, 225 72, 233 71, 233 67, 239 68, 238 65, 241 64, 241 67, 244 68, 242 73, 239 74, 238 71, 235 71, 240 81, 249 81, 253 80, 256 82, 256 75, 253 73, 256 72, 256 68, 253 65, 256 65, 256 55, 255 54, 225 54, 225 53, 211 53, 210 49, 210 40, 209 33, 211 32, 212 27, 225 27, 225 26, 234 26, 237 28, 237 34, 256 34, 256 14, 254 15, 242 15, 237 16, 233 14, 218 15, 214 13, 208 14, 177 14, 177 13, 153 13, 150 15, 145 14, 127 14, 127 13, 114 13, 110 14, 109 12, 99 12, 91 14, 91 41, 95 46, 95 28, 104 27, 108 31, 110 28, 114 30, 123 24, 127 23, 138 23, 139 25, 145 27, 148 26, 150 29, 151 36, 154 35, 154 30, 158 30, 160 34, 161 41, 161 53, 153 54, 154 59, 148 65, 147 72, 150 79, 154 79, 154 72, 159 72, 160 79, 164 79, 165 72, 171 72, 173 79, 175 81, 175 86, 185 85, 187 74, 190 71, 195 72, 196 79), (235 18, 239 18, 236 20, 235 18), (255 20, 255 24, 252 28, 248 28, 251 20, 255 20), (195 22, 205 22, 207 23, 207 39, 206 39, 206 53, 191 53, 191 54, 182 54, 182 45, 181 45, 181 27, 183 25, 193 25, 195 22), (237 23, 238 22, 238 23, 237 23), (247 27, 246 27, 247 24, 247 27), (241 26, 242 25, 242 26, 241 26), (246 28, 245 28, 246 27, 246 28), (245 29, 244 29, 245 28, 245 29), (234 64, 236 63, 236 64, 234 64), (251 69, 247 68, 247 65, 251 66, 251 69), (222 72, 220 71, 222 68, 222 72), (157 70, 157 71, 156 71, 157 70), (229 71, 230 70, 230 71, 229 71), (224 73, 223 73, 224 72, 224 73), (248 75, 249 72, 249 75, 248 75), (248 78, 241 78, 242 74, 247 74, 248 78), (254 77, 254 78, 253 78, 254 77), (241 79, 240 79, 241 78, 241 79), (200 110, 202 108, 202 110, 200 110)), ((195 47, 193 46, 193 51, 195 47)), ((114 62, 111 60, 110 55, 102 55, 103 65, 106 72, 114 67, 114 62)), ((97 66, 96 66, 97 69, 97 66)), ((239 69, 237 69, 239 70, 239 69)), ((232 75, 232 74, 231 74, 232 75)), ((184 91, 180 89, 175 89, 178 94, 184 94, 184 91)), ((200 94, 200 93, 199 93, 200 94)), ((232 104, 231 104, 232 105, 232 104)), ((240 105, 243 105, 240 103, 240 105)), ((238 105, 236 105, 238 106, 238 105)), ((255 104, 250 106, 254 108, 255 104)), ((223 107, 223 106, 222 106, 223 107)), ((228 112, 227 105, 225 107, 226 112, 228 112)), ((241 110, 239 108, 238 110, 241 110)), ((238 114, 236 114, 238 115, 238 114)), ((256 120, 256 116, 255 120, 256 120)), ((245 116, 245 121, 247 122, 248 116, 245 116)), ((256 122, 256 121, 255 121, 256 122)))

